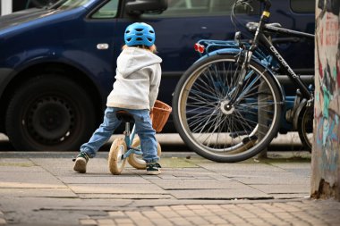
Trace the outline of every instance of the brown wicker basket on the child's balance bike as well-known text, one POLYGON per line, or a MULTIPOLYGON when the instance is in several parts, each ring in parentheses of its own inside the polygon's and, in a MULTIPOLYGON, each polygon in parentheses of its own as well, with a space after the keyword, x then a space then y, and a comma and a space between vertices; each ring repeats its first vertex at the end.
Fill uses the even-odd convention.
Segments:
POLYGON ((169 118, 171 111, 171 106, 166 105, 166 103, 159 100, 156 101, 150 115, 152 120, 152 127, 154 130, 156 130, 157 132, 163 130, 163 127, 166 125, 166 121, 169 118))

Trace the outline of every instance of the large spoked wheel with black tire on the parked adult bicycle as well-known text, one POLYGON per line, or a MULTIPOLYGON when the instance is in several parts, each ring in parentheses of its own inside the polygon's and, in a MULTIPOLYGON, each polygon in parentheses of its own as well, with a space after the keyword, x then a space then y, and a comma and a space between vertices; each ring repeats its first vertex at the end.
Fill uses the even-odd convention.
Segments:
POLYGON ((242 92, 229 105, 239 68, 231 54, 195 63, 179 80, 173 97, 176 130, 197 154, 221 163, 251 158, 276 136, 282 94, 271 74, 251 61, 242 92))

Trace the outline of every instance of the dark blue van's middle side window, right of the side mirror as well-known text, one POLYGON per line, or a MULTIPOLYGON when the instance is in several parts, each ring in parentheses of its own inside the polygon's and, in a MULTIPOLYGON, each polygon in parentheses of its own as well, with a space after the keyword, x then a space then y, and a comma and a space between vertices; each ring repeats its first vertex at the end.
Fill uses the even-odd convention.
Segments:
MULTIPOLYGON (((254 4, 257 5, 258 2, 255 2, 254 4)), ((166 11, 157 17, 229 15, 232 12, 233 4, 234 0, 168 0, 166 11)), ((238 7, 237 13, 253 14, 256 12, 251 12, 249 7, 238 7)))

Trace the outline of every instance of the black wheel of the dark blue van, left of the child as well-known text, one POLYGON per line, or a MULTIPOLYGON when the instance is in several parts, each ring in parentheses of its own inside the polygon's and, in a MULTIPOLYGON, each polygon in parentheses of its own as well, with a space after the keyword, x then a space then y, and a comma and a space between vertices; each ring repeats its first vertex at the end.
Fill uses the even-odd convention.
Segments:
POLYGON ((55 74, 22 84, 6 112, 6 133, 17 150, 78 150, 95 127, 95 107, 88 94, 55 74))

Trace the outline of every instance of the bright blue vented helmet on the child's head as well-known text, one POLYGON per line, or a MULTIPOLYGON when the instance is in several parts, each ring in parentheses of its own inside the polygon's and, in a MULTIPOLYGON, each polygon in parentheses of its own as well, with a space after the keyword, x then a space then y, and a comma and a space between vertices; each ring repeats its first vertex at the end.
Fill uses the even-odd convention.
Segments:
POLYGON ((125 29, 126 46, 152 46, 155 39, 155 30, 147 23, 135 22, 125 29))

